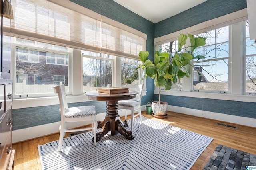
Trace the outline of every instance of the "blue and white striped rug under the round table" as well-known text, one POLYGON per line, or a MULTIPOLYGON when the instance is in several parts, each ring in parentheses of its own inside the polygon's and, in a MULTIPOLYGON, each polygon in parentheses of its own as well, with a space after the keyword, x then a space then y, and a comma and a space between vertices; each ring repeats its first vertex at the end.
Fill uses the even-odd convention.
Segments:
POLYGON ((63 152, 58 152, 58 141, 39 145, 42 169, 187 170, 213 140, 145 117, 142 120, 140 124, 139 118, 134 119, 133 140, 105 135, 95 147, 92 133, 87 132, 65 138, 63 152))

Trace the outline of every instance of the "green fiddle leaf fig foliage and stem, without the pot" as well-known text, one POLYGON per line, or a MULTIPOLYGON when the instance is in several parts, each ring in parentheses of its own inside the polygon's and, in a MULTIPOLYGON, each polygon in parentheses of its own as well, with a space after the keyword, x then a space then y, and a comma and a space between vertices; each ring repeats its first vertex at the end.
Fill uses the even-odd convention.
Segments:
POLYGON ((142 65, 138 68, 142 68, 141 79, 149 76, 154 79, 154 85, 159 87, 159 102, 160 102, 160 89, 161 86, 165 87, 165 90, 170 90, 172 88, 172 82, 175 84, 178 80, 184 76, 189 77, 189 72, 186 65, 191 65, 190 60, 192 59, 202 59, 204 56, 197 55, 194 56, 194 49, 197 47, 204 46, 206 38, 194 37, 194 35, 180 34, 178 38, 178 49, 175 51, 174 55, 168 52, 162 52, 159 47, 158 51, 155 51, 154 62, 147 59, 149 56, 148 51, 140 51, 139 57, 142 61, 142 65), (190 46, 184 47, 186 40, 190 39, 190 46), (185 50, 184 50, 185 49, 185 50), (190 49, 188 51, 187 49, 190 49))

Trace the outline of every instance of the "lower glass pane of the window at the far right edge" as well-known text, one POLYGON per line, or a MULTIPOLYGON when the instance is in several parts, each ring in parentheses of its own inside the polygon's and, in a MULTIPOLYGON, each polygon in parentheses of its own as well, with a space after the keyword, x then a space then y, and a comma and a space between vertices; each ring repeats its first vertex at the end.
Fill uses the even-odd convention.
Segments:
POLYGON ((256 92, 256 56, 246 57, 246 92, 256 92))

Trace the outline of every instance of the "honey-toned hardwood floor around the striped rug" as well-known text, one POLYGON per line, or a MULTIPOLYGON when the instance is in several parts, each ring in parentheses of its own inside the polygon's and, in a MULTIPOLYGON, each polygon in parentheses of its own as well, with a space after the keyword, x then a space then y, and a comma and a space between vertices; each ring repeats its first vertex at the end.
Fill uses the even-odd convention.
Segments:
MULTIPOLYGON (((156 119, 152 115, 147 115, 145 112, 142 114, 149 119, 154 119, 162 123, 214 138, 210 145, 208 145, 200 155, 198 160, 196 160, 191 170, 202 170, 204 164, 214 152, 215 147, 219 144, 256 154, 256 128, 226 123, 238 127, 238 129, 232 129, 216 125, 217 122, 224 123, 221 121, 173 112, 168 112, 168 117, 165 119, 156 119)), ((121 117, 121 119, 123 120, 124 117, 121 117)), ((128 117, 128 119, 130 119, 130 117, 128 117)), ((59 134, 56 133, 45 137, 39 137, 38 139, 13 144, 15 155, 12 170, 40 170, 41 164, 37 146, 58 140, 58 138, 59 134)))

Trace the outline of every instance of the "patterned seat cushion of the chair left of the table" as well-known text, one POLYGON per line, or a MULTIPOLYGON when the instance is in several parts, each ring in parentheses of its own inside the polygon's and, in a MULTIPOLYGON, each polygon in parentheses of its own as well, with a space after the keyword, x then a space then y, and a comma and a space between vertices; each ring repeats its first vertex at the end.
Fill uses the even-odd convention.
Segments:
POLYGON ((65 109, 66 118, 89 117, 97 115, 95 106, 78 106, 65 109))

